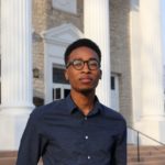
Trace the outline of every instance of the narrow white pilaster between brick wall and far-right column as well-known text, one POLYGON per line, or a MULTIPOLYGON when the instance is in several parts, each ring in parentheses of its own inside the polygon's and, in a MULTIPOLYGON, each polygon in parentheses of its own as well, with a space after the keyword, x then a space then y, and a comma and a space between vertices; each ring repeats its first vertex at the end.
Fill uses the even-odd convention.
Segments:
POLYGON ((142 111, 142 75, 141 67, 141 30, 139 0, 130 1, 130 53, 131 53, 131 85, 132 85, 132 121, 141 118, 142 111))

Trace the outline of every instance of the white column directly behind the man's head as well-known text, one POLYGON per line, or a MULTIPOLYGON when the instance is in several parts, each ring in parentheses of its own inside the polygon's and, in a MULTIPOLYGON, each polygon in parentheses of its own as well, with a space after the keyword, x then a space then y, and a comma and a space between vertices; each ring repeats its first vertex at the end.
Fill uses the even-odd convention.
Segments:
POLYGON ((109 0, 85 0, 85 36, 101 50, 102 78, 97 88, 100 101, 110 107, 110 12, 109 0))

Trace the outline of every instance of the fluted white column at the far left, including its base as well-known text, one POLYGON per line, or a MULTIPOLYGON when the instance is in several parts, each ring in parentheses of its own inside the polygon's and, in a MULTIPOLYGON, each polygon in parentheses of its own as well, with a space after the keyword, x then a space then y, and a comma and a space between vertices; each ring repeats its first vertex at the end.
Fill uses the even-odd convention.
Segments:
POLYGON ((31 0, 1 1, 0 150, 16 150, 32 103, 31 0))

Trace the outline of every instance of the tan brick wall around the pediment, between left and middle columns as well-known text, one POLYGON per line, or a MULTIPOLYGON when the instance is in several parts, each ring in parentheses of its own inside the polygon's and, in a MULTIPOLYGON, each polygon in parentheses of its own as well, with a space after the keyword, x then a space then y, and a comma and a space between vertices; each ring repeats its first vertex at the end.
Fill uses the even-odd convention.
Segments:
POLYGON ((33 68, 40 69, 40 77, 33 79, 35 97, 44 99, 44 43, 42 32, 63 23, 73 23, 82 31, 82 1, 77 1, 77 14, 54 9, 52 0, 33 0, 33 68))

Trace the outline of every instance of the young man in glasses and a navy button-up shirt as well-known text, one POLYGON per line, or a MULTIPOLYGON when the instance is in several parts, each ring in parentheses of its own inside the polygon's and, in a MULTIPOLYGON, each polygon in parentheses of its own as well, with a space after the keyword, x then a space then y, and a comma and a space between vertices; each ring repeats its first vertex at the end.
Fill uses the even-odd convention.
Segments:
MULTIPOLYGON (((80 38, 65 52, 67 98, 35 109, 23 133, 16 165, 127 165, 127 124, 101 105, 101 52, 80 38)), ((105 91, 106 92, 106 91, 105 91)))

